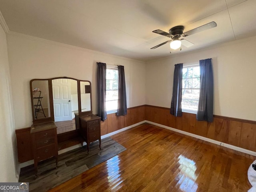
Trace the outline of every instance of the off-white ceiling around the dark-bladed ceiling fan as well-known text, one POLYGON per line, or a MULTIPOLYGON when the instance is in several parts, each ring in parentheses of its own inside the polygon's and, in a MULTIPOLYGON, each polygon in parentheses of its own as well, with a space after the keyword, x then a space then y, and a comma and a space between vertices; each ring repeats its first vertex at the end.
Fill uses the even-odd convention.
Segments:
POLYGON ((170 40, 156 29, 217 23, 172 54, 256 34, 256 0, 0 0, 0 12, 12 32, 142 61, 170 56, 169 44, 150 50, 170 40))

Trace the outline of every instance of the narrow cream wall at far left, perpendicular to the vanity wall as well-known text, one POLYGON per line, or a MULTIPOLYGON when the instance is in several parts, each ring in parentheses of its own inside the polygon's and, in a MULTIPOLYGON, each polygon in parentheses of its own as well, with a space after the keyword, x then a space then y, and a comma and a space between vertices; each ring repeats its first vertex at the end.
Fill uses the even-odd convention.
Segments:
POLYGON ((0 182, 18 182, 6 34, 0 24, 0 182))

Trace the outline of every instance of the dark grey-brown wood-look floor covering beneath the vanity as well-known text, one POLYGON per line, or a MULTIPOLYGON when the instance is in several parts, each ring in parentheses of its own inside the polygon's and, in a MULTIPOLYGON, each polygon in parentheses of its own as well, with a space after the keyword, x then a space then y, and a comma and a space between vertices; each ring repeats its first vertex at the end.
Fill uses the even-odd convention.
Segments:
POLYGON ((29 191, 45 192, 126 150, 110 137, 101 140, 101 148, 97 141, 90 144, 89 154, 86 146, 60 154, 57 169, 54 158, 39 162, 37 178, 34 165, 24 167, 19 182, 29 182, 29 191))

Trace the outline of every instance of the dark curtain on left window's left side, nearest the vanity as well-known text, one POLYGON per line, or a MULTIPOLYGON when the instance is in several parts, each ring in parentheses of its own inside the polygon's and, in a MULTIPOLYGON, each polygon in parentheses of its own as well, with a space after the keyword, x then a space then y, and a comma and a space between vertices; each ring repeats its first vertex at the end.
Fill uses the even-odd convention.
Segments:
POLYGON ((107 119, 106 111, 106 63, 97 63, 98 116, 107 119))

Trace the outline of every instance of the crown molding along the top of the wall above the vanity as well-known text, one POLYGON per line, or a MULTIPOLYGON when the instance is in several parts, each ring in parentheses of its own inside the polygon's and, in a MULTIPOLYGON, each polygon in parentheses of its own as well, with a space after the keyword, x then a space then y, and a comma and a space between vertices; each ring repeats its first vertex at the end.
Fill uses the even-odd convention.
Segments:
POLYGON ((64 44, 64 43, 60 43, 60 42, 56 42, 56 41, 52 41, 52 40, 35 37, 35 36, 25 35, 25 34, 13 32, 13 31, 9 31, 8 35, 18 36, 18 37, 22 37, 22 38, 26 38, 26 39, 30 39, 30 40, 35 40, 35 41, 39 41, 39 42, 43 42, 43 43, 47 43, 47 44, 51 44, 51 45, 55 45, 55 46, 61 46, 61 47, 69 48, 69 49, 92 53, 92 54, 98 54, 98 55, 108 56, 108 57, 112 57, 112 58, 119 58, 119 59, 128 60, 128 61, 135 61, 135 62, 139 62, 139 63, 143 63, 143 64, 146 63, 144 61, 140 61, 140 60, 136 60, 136 59, 116 56, 116 55, 103 53, 103 52, 99 52, 99 51, 94 51, 94 50, 90 50, 90 49, 86 49, 86 48, 81 48, 81 47, 77 47, 77 46, 73 46, 73 45, 68 45, 68 44, 64 44))

